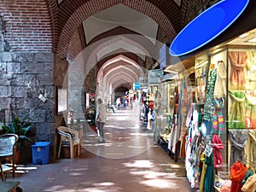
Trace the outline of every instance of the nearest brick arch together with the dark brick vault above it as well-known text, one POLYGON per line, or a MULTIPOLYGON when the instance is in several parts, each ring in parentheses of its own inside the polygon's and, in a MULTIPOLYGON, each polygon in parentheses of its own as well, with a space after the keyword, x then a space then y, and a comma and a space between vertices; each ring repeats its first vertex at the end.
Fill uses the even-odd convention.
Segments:
POLYGON ((54 15, 57 18, 57 26, 55 26, 57 40, 54 44, 54 50, 65 57, 68 44, 82 22, 91 15, 119 3, 143 15, 148 15, 165 32, 166 38, 172 40, 181 29, 181 16, 183 15, 181 7, 176 2, 170 0, 64 0, 57 8, 56 15, 54 15))

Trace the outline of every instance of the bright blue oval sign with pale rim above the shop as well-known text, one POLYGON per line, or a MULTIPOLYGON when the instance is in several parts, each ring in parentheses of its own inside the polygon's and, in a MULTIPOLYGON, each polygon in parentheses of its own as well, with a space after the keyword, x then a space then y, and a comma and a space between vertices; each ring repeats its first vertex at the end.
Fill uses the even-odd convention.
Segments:
POLYGON ((246 9, 249 0, 222 0, 198 15, 173 40, 169 52, 186 55, 224 32, 246 9))

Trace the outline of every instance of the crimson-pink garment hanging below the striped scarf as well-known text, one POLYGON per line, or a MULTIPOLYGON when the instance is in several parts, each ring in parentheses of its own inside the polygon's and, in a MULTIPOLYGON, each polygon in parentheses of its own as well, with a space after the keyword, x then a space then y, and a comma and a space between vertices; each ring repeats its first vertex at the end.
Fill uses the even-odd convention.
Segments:
POLYGON ((213 166, 218 167, 224 164, 222 158, 221 150, 224 148, 220 137, 218 135, 213 135, 212 137, 212 149, 213 149, 213 166))

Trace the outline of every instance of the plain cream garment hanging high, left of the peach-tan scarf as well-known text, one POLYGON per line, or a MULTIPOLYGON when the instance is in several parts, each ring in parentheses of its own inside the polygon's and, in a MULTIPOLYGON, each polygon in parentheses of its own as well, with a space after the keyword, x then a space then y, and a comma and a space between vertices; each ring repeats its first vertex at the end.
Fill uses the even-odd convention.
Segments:
POLYGON ((217 67, 217 78, 216 83, 214 86, 214 96, 226 96, 227 90, 226 90, 226 66, 224 64, 224 61, 218 61, 218 67, 217 67))

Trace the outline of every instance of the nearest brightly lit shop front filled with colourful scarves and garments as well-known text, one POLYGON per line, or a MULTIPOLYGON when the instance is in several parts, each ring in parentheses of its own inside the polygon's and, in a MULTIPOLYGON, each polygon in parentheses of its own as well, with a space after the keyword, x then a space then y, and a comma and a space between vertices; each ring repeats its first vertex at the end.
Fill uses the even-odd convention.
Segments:
POLYGON ((248 20, 253 10, 251 1, 216 41, 166 67, 179 72, 179 155, 191 188, 200 191, 247 191, 255 185, 256 23, 248 20))

